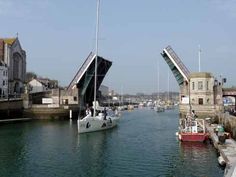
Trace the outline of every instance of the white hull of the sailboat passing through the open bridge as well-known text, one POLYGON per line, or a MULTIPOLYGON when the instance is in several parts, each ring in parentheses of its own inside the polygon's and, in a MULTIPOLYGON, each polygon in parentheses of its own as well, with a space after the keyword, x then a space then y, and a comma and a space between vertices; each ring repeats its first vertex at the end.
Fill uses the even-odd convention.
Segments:
POLYGON ((113 128, 117 125, 119 119, 119 117, 107 116, 106 120, 104 120, 104 117, 101 116, 92 117, 88 115, 82 120, 78 120, 78 133, 88 133, 113 128))

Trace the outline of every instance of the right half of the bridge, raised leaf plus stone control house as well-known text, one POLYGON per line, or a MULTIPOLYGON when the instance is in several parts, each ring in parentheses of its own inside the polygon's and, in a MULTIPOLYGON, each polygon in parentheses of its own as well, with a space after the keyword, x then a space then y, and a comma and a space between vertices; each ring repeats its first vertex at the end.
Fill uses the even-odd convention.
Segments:
POLYGON ((223 88, 225 79, 218 81, 210 72, 190 72, 171 46, 164 48, 161 55, 180 88, 181 117, 185 116, 190 109, 200 117, 215 116, 224 111, 223 97, 236 98, 235 88, 223 88))

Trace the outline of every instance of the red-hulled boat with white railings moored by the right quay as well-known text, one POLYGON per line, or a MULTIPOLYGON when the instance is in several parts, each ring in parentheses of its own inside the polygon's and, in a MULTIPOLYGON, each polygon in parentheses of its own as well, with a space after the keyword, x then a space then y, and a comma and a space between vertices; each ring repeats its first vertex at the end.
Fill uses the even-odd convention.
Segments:
POLYGON ((204 142, 208 139, 204 119, 193 119, 188 116, 186 119, 180 119, 178 133, 181 141, 204 142))

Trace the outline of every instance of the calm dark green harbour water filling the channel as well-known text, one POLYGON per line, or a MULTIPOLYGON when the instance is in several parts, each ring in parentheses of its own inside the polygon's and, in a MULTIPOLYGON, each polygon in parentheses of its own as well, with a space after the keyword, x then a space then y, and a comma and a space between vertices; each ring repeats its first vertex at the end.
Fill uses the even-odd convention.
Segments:
POLYGON ((222 177, 210 144, 179 143, 178 112, 124 112, 115 129, 77 134, 76 122, 0 125, 0 176, 222 177))

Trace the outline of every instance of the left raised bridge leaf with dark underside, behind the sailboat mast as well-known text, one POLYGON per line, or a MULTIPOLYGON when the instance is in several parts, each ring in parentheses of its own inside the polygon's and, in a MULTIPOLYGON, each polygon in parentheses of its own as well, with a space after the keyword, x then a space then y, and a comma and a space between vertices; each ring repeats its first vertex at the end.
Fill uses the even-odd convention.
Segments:
MULTIPOLYGON (((80 107, 85 106, 85 104, 92 105, 94 99, 95 58, 96 55, 90 53, 69 86, 69 89, 73 89, 75 86, 78 88, 80 107)), ((100 56, 97 57, 96 91, 98 91, 111 65, 111 61, 108 61, 100 56)))

